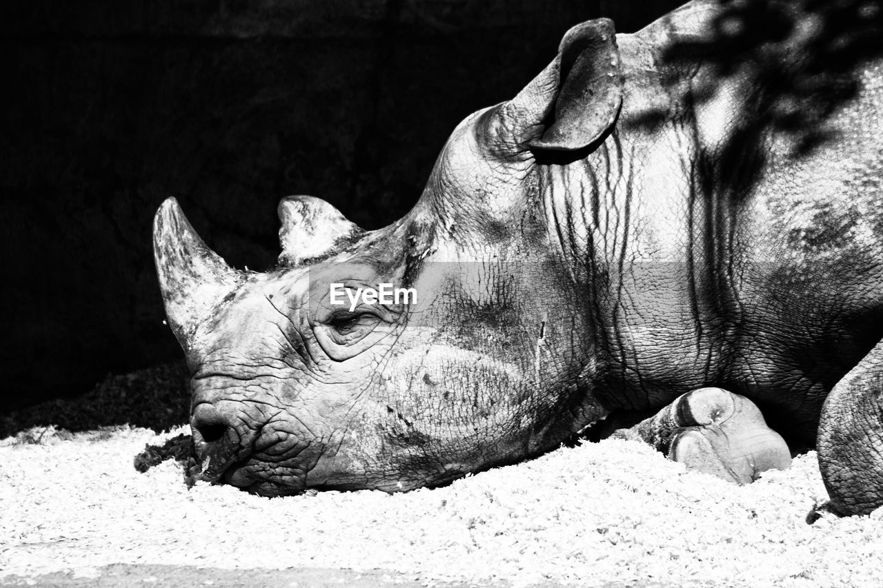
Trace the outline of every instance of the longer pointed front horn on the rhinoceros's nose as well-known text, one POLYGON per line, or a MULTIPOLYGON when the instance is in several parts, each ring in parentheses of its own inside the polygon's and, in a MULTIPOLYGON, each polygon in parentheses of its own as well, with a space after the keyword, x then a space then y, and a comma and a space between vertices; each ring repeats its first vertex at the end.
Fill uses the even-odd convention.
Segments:
POLYGON ((154 217, 154 260, 169 326, 187 351, 200 322, 236 289, 242 275, 208 248, 174 198, 166 199, 154 217))

